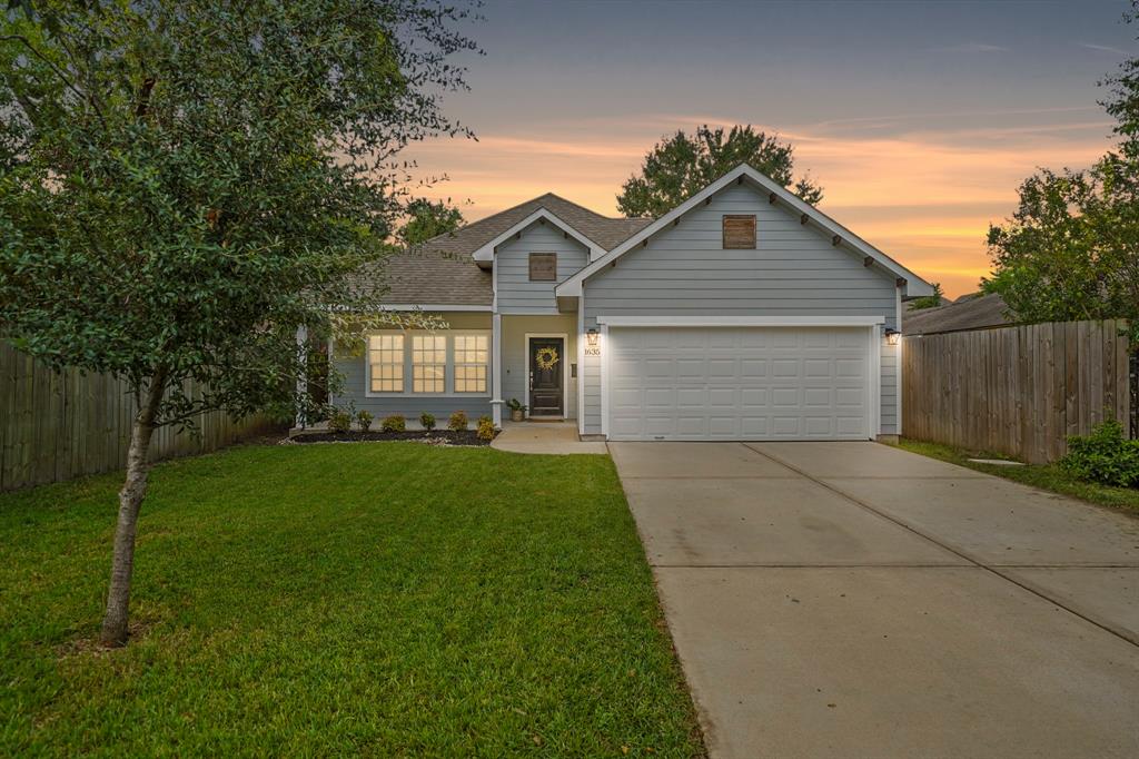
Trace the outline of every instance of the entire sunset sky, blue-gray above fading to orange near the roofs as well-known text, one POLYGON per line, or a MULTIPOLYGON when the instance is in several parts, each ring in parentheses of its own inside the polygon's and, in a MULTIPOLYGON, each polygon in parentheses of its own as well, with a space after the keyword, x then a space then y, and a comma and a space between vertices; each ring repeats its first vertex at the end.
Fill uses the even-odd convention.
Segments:
POLYGON ((989 269, 990 222, 1036 166, 1109 149, 1096 82, 1139 52, 1122 0, 500 2, 469 33, 477 141, 408 156, 480 219, 546 191, 616 214, 654 142, 751 123, 796 147, 821 209, 951 297, 989 269), (467 203, 469 201, 469 204, 467 203))

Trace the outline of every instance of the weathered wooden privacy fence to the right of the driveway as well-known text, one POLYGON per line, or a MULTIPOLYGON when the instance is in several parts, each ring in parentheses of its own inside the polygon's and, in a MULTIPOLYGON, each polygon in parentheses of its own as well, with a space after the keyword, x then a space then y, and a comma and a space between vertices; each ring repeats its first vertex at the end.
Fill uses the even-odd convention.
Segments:
POLYGON ((1067 436, 1129 418, 1123 321, 1066 321, 934 335, 902 346, 902 434, 1054 462, 1067 436))

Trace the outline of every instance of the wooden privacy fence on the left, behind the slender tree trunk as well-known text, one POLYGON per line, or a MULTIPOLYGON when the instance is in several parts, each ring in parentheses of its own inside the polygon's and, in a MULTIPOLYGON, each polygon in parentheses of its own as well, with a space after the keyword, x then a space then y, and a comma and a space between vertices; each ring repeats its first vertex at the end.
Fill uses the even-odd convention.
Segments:
MULTIPOLYGON (((124 468, 134 410, 126 383, 56 373, 0 342, 0 491, 124 468)), ((215 450, 276 427, 265 417, 233 422, 218 411, 197 425, 198 434, 155 431, 150 459, 215 450)))

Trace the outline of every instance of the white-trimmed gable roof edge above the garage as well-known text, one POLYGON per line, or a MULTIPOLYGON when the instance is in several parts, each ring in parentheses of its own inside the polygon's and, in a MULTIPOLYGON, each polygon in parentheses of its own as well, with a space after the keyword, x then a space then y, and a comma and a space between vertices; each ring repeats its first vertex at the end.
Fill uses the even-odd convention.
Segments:
POLYGON ((805 219, 810 219, 818 226, 826 229, 830 235, 834 235, 838 238, 839 244, 849 245, 859 253, 869 256, 875 263, 882 266, 894 276, 904 280, 906 295, 933 295, 933 286, 925 279, 917 276, 898 261, 894 261, 892 258, 876 248, 874 245, 870 245, 865 239, 846 229, 846 227, 843 227, 841 223, 816 209, 813 205, 804 203, 801 198, 788 191, 782 185, 775 181, 770 177, 760 173, 746 163, 739 164, 727 174, 674 207, 669 213, 664 214, 659 219, 656 219, 652 223, 646 225, 644 229, 631 236, 629 239, 624 240, 612 251, 590 263, 573 277, 570 277, 559 284, 555 288, 555 292, 558 296, 580 295, 581 284, 590 276, 597 274, 604 267, 624 255, 637 245, 648 240, 649 237, 664 229, 670 223, 678 221, 683 214, 688 213, 700 203, 710 199, 714 194, 719 193, 732 182, 743 182, 745 179, 759 185, 764 189, 764 191, 770 193, 772 203, 778 201, 779 203, 789 206, 796 214, 802 214, 805 219))

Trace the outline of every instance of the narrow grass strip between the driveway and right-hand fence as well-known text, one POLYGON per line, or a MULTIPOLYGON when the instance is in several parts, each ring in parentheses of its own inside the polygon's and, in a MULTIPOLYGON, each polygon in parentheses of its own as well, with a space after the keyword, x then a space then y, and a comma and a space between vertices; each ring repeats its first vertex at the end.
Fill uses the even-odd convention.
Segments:
POLYGON ((1080 498, 1100 506, 1111 506, 1134 515, 1139 515, 1139 490, 1134 488, 1113 488, 1109 485, 1096 484, 1095 482, 1083 482, 1074 479, 1056 464, 1025 464, 1024 466, 993 466, 992 464, 977 464, 969 458, 1008 458, 1002 454, 986 454, 983 451, 966 451, 952 446, 941 443, 923 442, 920 440, 908 440, 903 438, 898 446, 906 450, 940 458, 943 462, 967 466, 986 474, 995 474, 1006 480, 1022 482, 1041 490, 1050 490, 1073 498, 1080 498))

